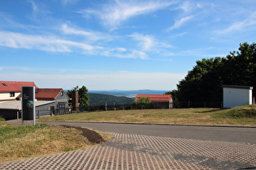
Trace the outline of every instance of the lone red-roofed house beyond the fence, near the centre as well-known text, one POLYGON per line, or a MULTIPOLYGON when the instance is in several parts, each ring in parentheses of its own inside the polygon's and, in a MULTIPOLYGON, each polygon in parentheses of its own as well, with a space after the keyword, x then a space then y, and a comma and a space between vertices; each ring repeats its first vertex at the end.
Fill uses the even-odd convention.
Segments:
POLYGON ((173 108, 171 95, 140 95, 138 94, 135 101, 142 97, 149 97, 154 108, 173 108))

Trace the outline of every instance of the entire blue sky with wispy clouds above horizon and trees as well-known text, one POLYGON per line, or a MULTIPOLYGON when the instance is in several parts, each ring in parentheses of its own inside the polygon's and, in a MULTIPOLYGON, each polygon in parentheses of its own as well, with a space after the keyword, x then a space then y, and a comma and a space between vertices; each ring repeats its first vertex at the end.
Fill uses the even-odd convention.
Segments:
POLYGON ((0 0, 0 79, 171 91, 255 35, 254 0, 0 0))

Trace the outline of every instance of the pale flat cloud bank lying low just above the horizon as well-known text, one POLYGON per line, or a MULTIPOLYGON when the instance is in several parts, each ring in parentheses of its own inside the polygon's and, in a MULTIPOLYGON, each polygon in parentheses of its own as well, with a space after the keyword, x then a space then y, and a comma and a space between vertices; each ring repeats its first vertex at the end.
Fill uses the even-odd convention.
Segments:
POLYGON ((61 87, 71 89, 85 85, 89 90, 173 90, 184 74, 172 73, 141 73, 130 71, 117 71, 97 74, 29 74, 8 73, 2 74, 1 79, 15 81, 33 81, 37 87, 61 87), (11 78, 11 79, 10 79, 11 78))

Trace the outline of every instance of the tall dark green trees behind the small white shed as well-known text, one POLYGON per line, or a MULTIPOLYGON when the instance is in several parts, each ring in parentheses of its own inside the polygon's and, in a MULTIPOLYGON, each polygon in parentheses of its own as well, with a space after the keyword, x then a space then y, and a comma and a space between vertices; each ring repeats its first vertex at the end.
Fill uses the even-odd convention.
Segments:
POLYGON ((176 105, 181 101, 222 102, 223 85, 256 86, 255 43, 245 42, 226 57, 203 58, 196 63, 177 89, 166 93, 173 96, 176 105))

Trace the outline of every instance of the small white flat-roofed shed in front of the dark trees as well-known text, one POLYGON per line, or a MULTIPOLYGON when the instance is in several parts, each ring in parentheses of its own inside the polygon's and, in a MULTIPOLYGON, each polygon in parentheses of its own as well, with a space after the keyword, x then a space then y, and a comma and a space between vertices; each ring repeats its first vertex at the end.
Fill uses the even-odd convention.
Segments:
POLYGON ((253 89, 249 86, 223 85, 223 108, 253 104, 253 89))

